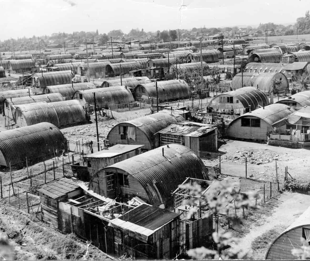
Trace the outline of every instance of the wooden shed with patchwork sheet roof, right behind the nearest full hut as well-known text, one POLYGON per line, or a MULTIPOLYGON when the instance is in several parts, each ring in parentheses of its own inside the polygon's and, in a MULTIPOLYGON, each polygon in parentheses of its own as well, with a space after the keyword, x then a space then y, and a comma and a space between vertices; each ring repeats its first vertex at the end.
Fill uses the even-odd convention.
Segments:
POLYGON ((192 149, 198 156, 200 152, 217 151, 218 130, 216 125, 198 122, 177 122, 158 131, 160 145, 182 144, 192 149))

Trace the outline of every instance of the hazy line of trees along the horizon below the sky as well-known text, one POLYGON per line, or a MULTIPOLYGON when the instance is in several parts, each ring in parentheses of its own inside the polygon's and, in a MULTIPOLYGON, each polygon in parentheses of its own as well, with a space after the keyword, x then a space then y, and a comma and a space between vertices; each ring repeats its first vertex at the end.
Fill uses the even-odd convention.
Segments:
MULTIPOLYGON (((284 26, 282 24, 259 24, 257 28, 252 28, 251 26, 247 26, 244 28, 238 28, 237 26, 233 27, 224 27, 224 28, 196 28, 194 27, 191 30, 187 29, 177 29, 177 30, 163 30, 156 32, 145 32, 142 28, 131 29, 129 33, 123 33, 122 30, 112 30, 108 33, 100 33, 98 29, 92 32, 73 32, 73 33, 52 33, 51 36, 43 35, 40 36, 41 46, 44 48, 49 43, 64 45, 66 43, 81 43, 85 42, 85 38, 87 42, 94 41, 100 45, 107 44, 111 37, 114 40, 119 40, 122 42, 127 42, 130 40, 139 39, 141 41, 150 41, 150 42, 168 42, 168 41, 176 41, 179 38, 181 40, 196 40, 201 36, 201 34, 206 35, 215 35, 218 33, 226 33, 228 35, 238 35, 238 34, 249 34, 253 38, 256 37, 264 37, 266 33, 268 36, 281 36, 281 35, 294 35, 298 34, 308 34, 310 33, 310 15, 309 11, 306 11, 304 17, 299 17, 296 20, 296 23, 290 24, 288 26, 284 26)), ((33 35, 32 38, 17 38, 14 39, 14 49, 18 50, 33 50, 38 49, 38 37, 33 35)), ((0 50, 1 51, 13 51, 13 42, 12 39, 7 39, 4 41, 0 41, 0 50)))

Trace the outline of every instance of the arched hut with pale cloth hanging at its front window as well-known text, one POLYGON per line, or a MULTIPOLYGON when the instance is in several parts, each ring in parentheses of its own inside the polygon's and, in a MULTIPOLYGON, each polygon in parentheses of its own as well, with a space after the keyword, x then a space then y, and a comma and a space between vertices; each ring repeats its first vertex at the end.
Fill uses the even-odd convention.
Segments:
POLYGON ((150 150, 159 147, 158 131, 171 123, 184 121, 177 113, 158 112, 139 117, 127 122, 120 122, 108 133, 107 139, 110 145, 115 144, 143 144, 142 150, 150 150))

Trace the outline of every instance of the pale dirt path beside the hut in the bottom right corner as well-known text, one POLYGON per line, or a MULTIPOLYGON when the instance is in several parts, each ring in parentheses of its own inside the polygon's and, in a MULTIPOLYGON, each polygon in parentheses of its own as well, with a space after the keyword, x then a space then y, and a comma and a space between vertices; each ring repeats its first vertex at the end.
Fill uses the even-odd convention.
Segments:
MULTIPOLYGON (((256 237, 259 237, 273 228, 277 228, 279 230, 278 234, 283 232, 285 228, 293 223, 294 220, 297 219, 299 215, 301 215, 310 206, 309 199, 309 195, 290 192, 283 193, 280 197, 278 197, 278 200, 283 202, 281 202, 279 206, 274 209, 272 215, 265 217, 265 222, 260 226, 256 226, 255 223, 253 223, 250 227, 250 232, 240 239, 238 245, 232 246, 232 249, 247 250, 249 251, 249 254, 252 255, 253 250, 251 248, 251 244, 255 241, 256 237)), ((271 242, 272 241, 270 240, 270 243, 271 242)), ((259 251, 256 250, 254 255, 255 259, 264 259, 268 247, 269 245, 266 246, 265 249, 261 249, 259 251)))

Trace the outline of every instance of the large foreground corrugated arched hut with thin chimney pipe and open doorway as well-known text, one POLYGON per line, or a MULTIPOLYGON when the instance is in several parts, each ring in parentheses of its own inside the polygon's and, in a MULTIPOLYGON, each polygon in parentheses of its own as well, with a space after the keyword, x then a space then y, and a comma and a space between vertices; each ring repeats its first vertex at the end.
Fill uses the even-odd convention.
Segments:
POLYGON ((191 149, 169 144, 98 171, 89 189, 122 201, 139 197, 165 208, 172 206, 170 193, 187 177, 206 179, 206 167, 191 149))

